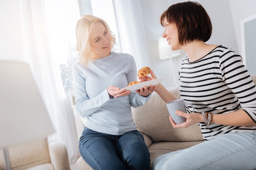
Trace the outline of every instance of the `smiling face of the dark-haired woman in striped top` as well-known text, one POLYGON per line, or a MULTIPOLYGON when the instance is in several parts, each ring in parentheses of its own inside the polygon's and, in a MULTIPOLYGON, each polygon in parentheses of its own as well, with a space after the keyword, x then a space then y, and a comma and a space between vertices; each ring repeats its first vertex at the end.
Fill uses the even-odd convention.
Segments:
POLYGON ((179 50, 181 48, 177 27, 174 23, 168 23, 166 18, 164 19, 164 33, 162 37, 166 38, 169 46, 171 46, 171 50, 179 50))

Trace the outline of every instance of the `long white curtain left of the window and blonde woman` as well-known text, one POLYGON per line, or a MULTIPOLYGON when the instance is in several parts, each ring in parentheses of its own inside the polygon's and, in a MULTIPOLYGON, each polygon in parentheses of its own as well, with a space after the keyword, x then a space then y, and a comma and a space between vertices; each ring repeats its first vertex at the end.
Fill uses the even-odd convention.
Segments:
POLYGON ((49 141, 63 141, 72 163, 78 155, 78 137, 74 115, 52 56, 44 0, 20 0, 20 5, 25 61, 31 65, 56 131, 49 141))

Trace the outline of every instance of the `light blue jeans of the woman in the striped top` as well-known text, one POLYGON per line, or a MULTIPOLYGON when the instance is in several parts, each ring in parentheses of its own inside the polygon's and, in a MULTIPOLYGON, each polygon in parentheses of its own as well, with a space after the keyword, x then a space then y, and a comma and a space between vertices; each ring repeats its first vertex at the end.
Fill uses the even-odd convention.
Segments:
POLYGON ((256 170, 256 132, 227 133, 157 157, 153 170, 256 170))

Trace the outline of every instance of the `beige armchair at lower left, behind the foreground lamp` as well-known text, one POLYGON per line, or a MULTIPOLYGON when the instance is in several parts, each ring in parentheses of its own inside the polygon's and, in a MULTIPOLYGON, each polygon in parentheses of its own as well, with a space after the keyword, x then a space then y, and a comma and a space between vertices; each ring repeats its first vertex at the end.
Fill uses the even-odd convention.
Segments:
MULTIPOLYGON (((8 148, 12 170, 70 170, 64 142, 39 139, 8 148)), ((0 170, 4 170, 4 151, 0 149, 0 170)))

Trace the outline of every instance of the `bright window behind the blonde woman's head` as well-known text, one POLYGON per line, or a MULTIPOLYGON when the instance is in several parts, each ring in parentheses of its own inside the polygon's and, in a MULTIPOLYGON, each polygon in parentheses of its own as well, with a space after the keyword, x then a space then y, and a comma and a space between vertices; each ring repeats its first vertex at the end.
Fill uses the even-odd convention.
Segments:
POLYGON ((115 34, 113 51, 120 52, 117 24, 112 0, 45 0, 52 56, 58 68, 66 94, 73 88, 72 65, 78 60, 75 26, 83 14, 105 20, 115 34))

